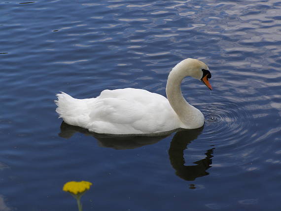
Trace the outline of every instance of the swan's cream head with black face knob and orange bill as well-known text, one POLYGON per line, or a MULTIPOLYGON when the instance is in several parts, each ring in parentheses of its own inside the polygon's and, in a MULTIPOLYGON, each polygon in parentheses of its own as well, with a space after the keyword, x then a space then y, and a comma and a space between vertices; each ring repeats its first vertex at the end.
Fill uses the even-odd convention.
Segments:
POLYGON ((180 70, 185 76, 192 76, 201 80, 210 90, 212 90, 209 82, 211 72, 204 62, 188 58, 178 63, 175 68, 180 70))

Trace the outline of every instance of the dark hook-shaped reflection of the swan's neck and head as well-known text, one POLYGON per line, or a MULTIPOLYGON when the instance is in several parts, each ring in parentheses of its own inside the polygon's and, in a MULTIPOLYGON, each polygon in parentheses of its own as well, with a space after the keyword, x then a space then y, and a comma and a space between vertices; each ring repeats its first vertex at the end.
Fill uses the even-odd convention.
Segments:
POLYGON ((209 175, 206 170, 211 167, 211 158, 213 157, 211 154, 214 148, 207 150, 205 153, 206 158, 194 162, 196 165, 184 166, 184 150, 191 141, 197 139, 202 130, 203 128, 179 131, 171 141, 169 149, 171 164, 176 170, 176 175, 185 180, 193 181, 197 177, 209 175))

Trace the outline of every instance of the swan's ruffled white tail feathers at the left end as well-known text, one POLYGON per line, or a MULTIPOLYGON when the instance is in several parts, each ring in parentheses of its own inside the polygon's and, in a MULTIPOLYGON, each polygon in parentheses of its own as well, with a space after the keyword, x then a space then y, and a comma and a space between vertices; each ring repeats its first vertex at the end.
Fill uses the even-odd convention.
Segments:
POLYGON ((83 112, 84 103, 82 100, 72 98, 70 95, 61 92, 56 95, 58 100, 55 100, 56 112, 59 114, 59 118, 63 118, 64 121, 70 125, 77 125, 79 116, 83 112))

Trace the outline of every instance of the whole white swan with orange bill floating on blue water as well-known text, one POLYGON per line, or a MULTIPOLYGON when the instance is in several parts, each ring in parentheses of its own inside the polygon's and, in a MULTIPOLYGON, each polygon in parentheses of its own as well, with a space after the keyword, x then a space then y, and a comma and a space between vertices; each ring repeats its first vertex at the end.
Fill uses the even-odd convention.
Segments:
POLYGON ((197 59, 185 59, 170 72, 166 94, 143 89, 104 90, 97 98, 74 99, 57 94, 59 118, 74 126, 102 134, 153 134, 178 128, 194 129, 204 125, 204 115, 183 98, 180 84, 184 77, 201 80, 210 89, 209 68, 197 59))

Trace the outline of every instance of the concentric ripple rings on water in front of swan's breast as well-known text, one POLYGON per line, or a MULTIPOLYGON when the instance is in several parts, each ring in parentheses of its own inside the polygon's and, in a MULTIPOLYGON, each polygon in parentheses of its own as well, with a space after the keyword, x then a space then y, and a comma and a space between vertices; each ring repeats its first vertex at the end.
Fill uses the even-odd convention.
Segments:
POLYGON ((205 115, 204 139, 222 146, 245 141, 253 117, 243 102, 211 103, 201 111, 205 115))

